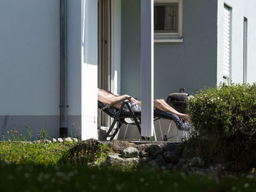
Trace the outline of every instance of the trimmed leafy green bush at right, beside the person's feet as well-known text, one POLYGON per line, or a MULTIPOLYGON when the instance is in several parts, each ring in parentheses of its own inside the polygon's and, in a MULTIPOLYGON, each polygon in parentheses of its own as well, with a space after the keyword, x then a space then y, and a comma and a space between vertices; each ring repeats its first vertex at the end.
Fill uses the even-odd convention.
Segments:
POLYGON ((242 166, 252 164, 256 145, 255 96, 255 83, 224 83, 189 99, 188 113, 195 128, 190 144, 196 153, 207 161, 218 158, 224 162, 240 161, 242 166))

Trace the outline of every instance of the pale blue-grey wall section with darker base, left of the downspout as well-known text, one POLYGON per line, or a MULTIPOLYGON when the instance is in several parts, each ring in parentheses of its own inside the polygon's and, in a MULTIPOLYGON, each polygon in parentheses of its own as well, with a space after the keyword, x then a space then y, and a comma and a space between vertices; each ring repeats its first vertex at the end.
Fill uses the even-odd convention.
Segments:
POLYGON ((0 23, 0 134, 59 134, 59 1, 1 0, 0 23))

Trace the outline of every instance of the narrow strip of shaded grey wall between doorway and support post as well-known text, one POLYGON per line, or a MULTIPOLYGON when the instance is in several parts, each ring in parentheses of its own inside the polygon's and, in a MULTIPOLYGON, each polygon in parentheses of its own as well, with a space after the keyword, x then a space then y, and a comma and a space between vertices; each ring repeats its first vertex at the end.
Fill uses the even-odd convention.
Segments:
POLYGON ((123 0, 121 8, 121 94, 140 98, 140 0, 123 0))

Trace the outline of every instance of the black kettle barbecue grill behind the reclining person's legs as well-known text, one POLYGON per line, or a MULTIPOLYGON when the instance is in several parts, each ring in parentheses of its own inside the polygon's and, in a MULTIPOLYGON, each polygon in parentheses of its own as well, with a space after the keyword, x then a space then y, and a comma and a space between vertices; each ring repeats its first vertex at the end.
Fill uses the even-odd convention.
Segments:
POLYGON ((185 88, 180 88, 179 93, 171 93, 167 97, 167 104, 173 107, 175 110, 181 113, 186 113, 187 103, 186 100, 189 99, 189 94, 184 93, 185 88))

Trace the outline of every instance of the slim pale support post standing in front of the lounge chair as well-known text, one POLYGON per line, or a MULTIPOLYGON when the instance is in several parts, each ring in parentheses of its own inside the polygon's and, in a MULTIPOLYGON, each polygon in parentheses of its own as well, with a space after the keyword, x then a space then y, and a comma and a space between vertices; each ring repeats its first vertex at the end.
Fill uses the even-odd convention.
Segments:
POLYGON ((140 0, 141 135, 154 131, 154 0, 140 0))

